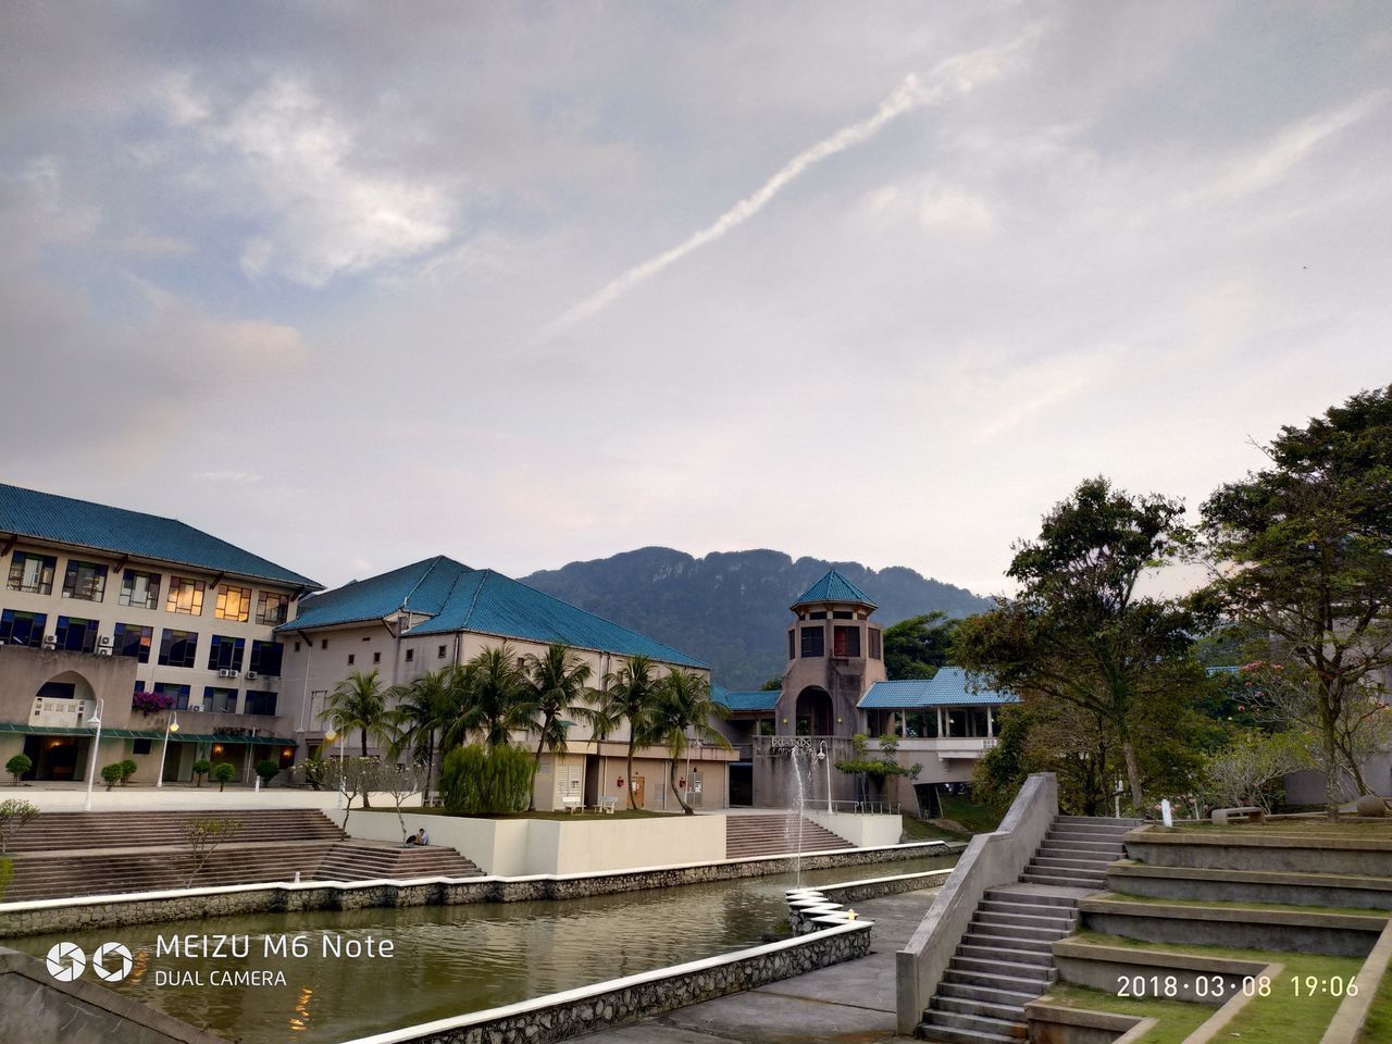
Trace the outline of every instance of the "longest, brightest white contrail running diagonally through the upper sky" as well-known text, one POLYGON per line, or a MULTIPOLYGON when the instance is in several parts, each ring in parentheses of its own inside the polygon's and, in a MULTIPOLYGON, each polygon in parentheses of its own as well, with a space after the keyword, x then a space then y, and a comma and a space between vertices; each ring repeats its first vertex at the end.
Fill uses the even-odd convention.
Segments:
POLYGON ((1001 47, 984 47, 981 50, 958 54, 941 63, 930 75, 930 85, 919 81, 917 74, 910 72, 895 88, 874 116, 859 122, 842 127, 839 131, 809 149, 803 149, 785 163, 777 174, 759 187, 756 192, 741 199, 735 206, 717 217, 711 224, 695 232, 683 242, 664 251, 654 258, 649 258, 640 264, 611 280, 597 292, 587 296, 571 308, 565 315, 553 322, 543 340, 558 334, 576 323, 589 319, 597 312, 612 305, 639 283, 644 283, 663 269, 681 260, 692 251, 700 249, 706 244, 714 242, 734 228, 738 228, 750 217, 757 214, 792 181, 805 171, 821 163, 828 156, 835 156, 880 132, 888 122, 920 106, 933 104, 942 100, 949 93, 965 95, 972 88, 990 79, 995 79, 1004 71, 1004 60, 1016 52, 1023 43, 1037 36, 1037 29, 1029 29, 1019 38, 1001 47))

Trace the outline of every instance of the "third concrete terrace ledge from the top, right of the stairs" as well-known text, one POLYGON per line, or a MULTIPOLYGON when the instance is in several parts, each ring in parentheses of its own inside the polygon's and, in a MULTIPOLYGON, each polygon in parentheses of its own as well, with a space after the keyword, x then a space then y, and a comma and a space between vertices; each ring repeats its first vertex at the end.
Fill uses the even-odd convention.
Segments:
POLYGON ((1304 913, 1221 906, 1083 899, 1083 924, 1104 935, 1143 942, 1190 942, 1239 949, 1278 949, 1336 956, 1367 956, 1386 917, 1354 913, 1304 913))

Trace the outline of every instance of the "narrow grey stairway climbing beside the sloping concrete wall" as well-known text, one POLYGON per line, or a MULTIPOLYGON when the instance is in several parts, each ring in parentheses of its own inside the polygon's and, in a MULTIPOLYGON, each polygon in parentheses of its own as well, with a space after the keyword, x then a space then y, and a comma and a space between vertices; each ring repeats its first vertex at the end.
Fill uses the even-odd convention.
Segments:
POLYGON ((942 1044, 1018 1044, 1025 1005, 1054 983, 1052 947, 1077 927, 1077 901, 1107 888, 1107 864, 1125 857, 1139 820, 1058 816, 1018 884, 986 892, 919 1037, 942 1044))

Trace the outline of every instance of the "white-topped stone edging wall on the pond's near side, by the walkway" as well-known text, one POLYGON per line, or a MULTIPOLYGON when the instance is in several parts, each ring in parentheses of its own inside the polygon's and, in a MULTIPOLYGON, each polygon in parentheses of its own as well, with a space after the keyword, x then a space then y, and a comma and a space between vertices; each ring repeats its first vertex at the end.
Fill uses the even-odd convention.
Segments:
POLYGON ((548 1044, 715 997, 853 960, 870 952, 870 923, 841 924, 764 947, 550 994, 535 1001, 408 1026, 347 1044, 548 1044))

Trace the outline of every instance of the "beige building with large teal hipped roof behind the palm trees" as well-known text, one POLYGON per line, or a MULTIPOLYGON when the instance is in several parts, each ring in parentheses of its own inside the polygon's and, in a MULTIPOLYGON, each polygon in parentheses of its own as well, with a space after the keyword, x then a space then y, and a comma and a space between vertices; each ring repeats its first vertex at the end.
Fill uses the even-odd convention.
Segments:
MULTIPOLYGON (((324 743, 334 721, 327 710, 334 689, 354 672, 377 671, 384 688, 409 685, 427 671, 466 664, 486 647, 504 643, 525 664, 551 643, 571 646, 590 667, 590 686, 600 688, 628 656, 654 661, 656 675, 683 670, 702 678, 710 668, 646 635, 619 626, 560 599, 518 583, 493 569, 470 569, 436 557, 355 580, 302 600, 294 619, 277 628, 285 643, 284 692, 299 709, 294 724, 309 754, 384 753, 373 738, 354 734, 347 748, 324 743)), ((660 748, 639 748, 628 778, 628 722, 604 739, 583 722, 568 728, 565 752, 543 752, 536 807, 585 806, 611 798, 624 807, 626 791, 649 809, 677 809, 670 788, 671 763, 660 748)), ((516 735, 532 749, 535 731, 516 735)), ((734 753, 693 743, 681 760, 678 788, 688 803, 724 807, 727 764, 734 753)))

